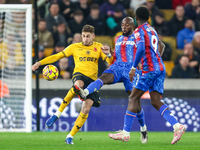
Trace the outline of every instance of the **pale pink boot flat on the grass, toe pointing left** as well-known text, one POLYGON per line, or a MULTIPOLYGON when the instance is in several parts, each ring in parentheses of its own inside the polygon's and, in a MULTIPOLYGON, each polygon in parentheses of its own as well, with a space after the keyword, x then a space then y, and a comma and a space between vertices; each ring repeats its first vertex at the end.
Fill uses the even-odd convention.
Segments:
POLYGON ((116 131, 118 133, 110 133, 108 136, 114 140, 121 140, 122 142, 128 142, 130 140, 130 132, 125 130, 116 131))

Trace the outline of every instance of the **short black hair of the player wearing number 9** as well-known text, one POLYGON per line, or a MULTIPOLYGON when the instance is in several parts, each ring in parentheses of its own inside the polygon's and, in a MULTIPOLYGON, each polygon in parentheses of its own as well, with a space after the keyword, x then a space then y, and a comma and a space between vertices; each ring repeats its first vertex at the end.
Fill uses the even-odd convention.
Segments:
POLYGON ((149 20, 150 13, 149 13, 148 8, 144 6, 138 7, 136 10, 136 16, 138 17, 140 21, 149 20))

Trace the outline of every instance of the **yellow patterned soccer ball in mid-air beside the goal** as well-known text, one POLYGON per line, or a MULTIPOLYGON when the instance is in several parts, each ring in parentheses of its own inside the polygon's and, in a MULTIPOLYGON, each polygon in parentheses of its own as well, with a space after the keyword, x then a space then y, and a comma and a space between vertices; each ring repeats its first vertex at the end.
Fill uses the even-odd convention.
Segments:
POLYGON ((46 65, 42 70, 42 75, 44 79, 48 81, 53 81, 58 77, 58 69, 54 65, 46 65))

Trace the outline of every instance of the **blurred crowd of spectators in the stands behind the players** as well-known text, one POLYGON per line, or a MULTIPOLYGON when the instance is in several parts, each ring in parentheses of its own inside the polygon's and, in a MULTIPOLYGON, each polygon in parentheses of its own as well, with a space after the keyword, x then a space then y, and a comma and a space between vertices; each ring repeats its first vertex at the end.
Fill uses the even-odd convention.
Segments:
MULTIPOLYGON (((0 3, 33 4, 33 0, 0 0, 0 3)), ((166 77, 199 78, 199 0, 38 0, 39 60, 62 51, 71 43, 81 42, 81 29, 86 24, 95 27, 97 37, 109 36, 114 43, 114 37, 122 34, 122 19, 126 16, 134 18, 136 8, 141 5, 150 10, 148 23, 156 29, 159 39, 166 45, 162 56, 166 64, 166 77)), ((34 36, 34 8, 32 13, 34 36)), ((0 24, 2 22, 1 17, 0 24)), ((21 32, 24 30, 15 36, 24 36, 20 34, 21 32)), ((20 40, 18 42, 24 44, 20 40)), ((32 51, 34 63, 34 48, 32 51)), ((74 68, 72 57, 63 58, 54 65, 60 71, 60 78, 72 77, 74 68)), ((100 60, 99 75, 106 67, 107 64, 100 60)), ((41 70, 42 68, 40 72, 41 70)))

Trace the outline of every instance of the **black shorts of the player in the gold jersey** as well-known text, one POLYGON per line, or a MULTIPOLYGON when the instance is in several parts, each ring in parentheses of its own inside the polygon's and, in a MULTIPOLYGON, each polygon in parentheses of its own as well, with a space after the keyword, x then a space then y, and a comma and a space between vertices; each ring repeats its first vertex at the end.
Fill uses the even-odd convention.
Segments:
MULTIPOLYGON (((83 75, 82 73, 76 72, 72 75, 72 82, 73 84, 75 83, 75 81, 77 80, 82 80, 84 82, 84 89, 91 83, 94 82, 94 80, 92 80, 91 78, 83 75)), ((99 97, 99 92, 93 92, 91 94, 89 94, 86 98, 88 99, 92 99, 94 101, 93 105, 94 107, 99 107, 100 106, 100 97, 99 97)))

